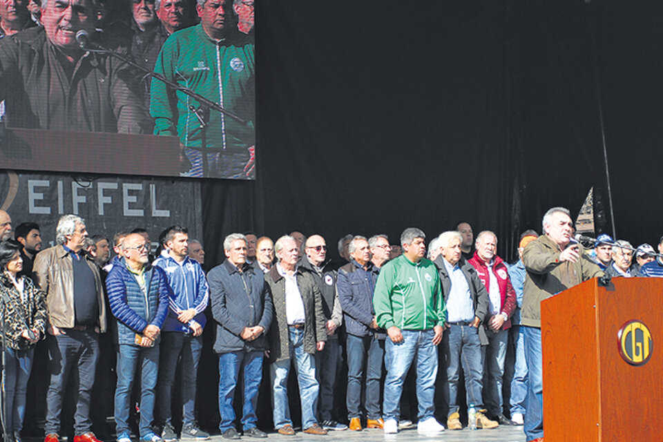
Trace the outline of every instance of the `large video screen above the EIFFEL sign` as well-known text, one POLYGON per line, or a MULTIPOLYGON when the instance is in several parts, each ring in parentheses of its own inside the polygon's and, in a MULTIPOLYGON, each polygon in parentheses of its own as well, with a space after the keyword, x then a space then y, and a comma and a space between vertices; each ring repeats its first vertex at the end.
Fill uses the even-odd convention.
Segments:
POLYGON ((253 0, 13 3, 1 169, 255 179, 253 0))

